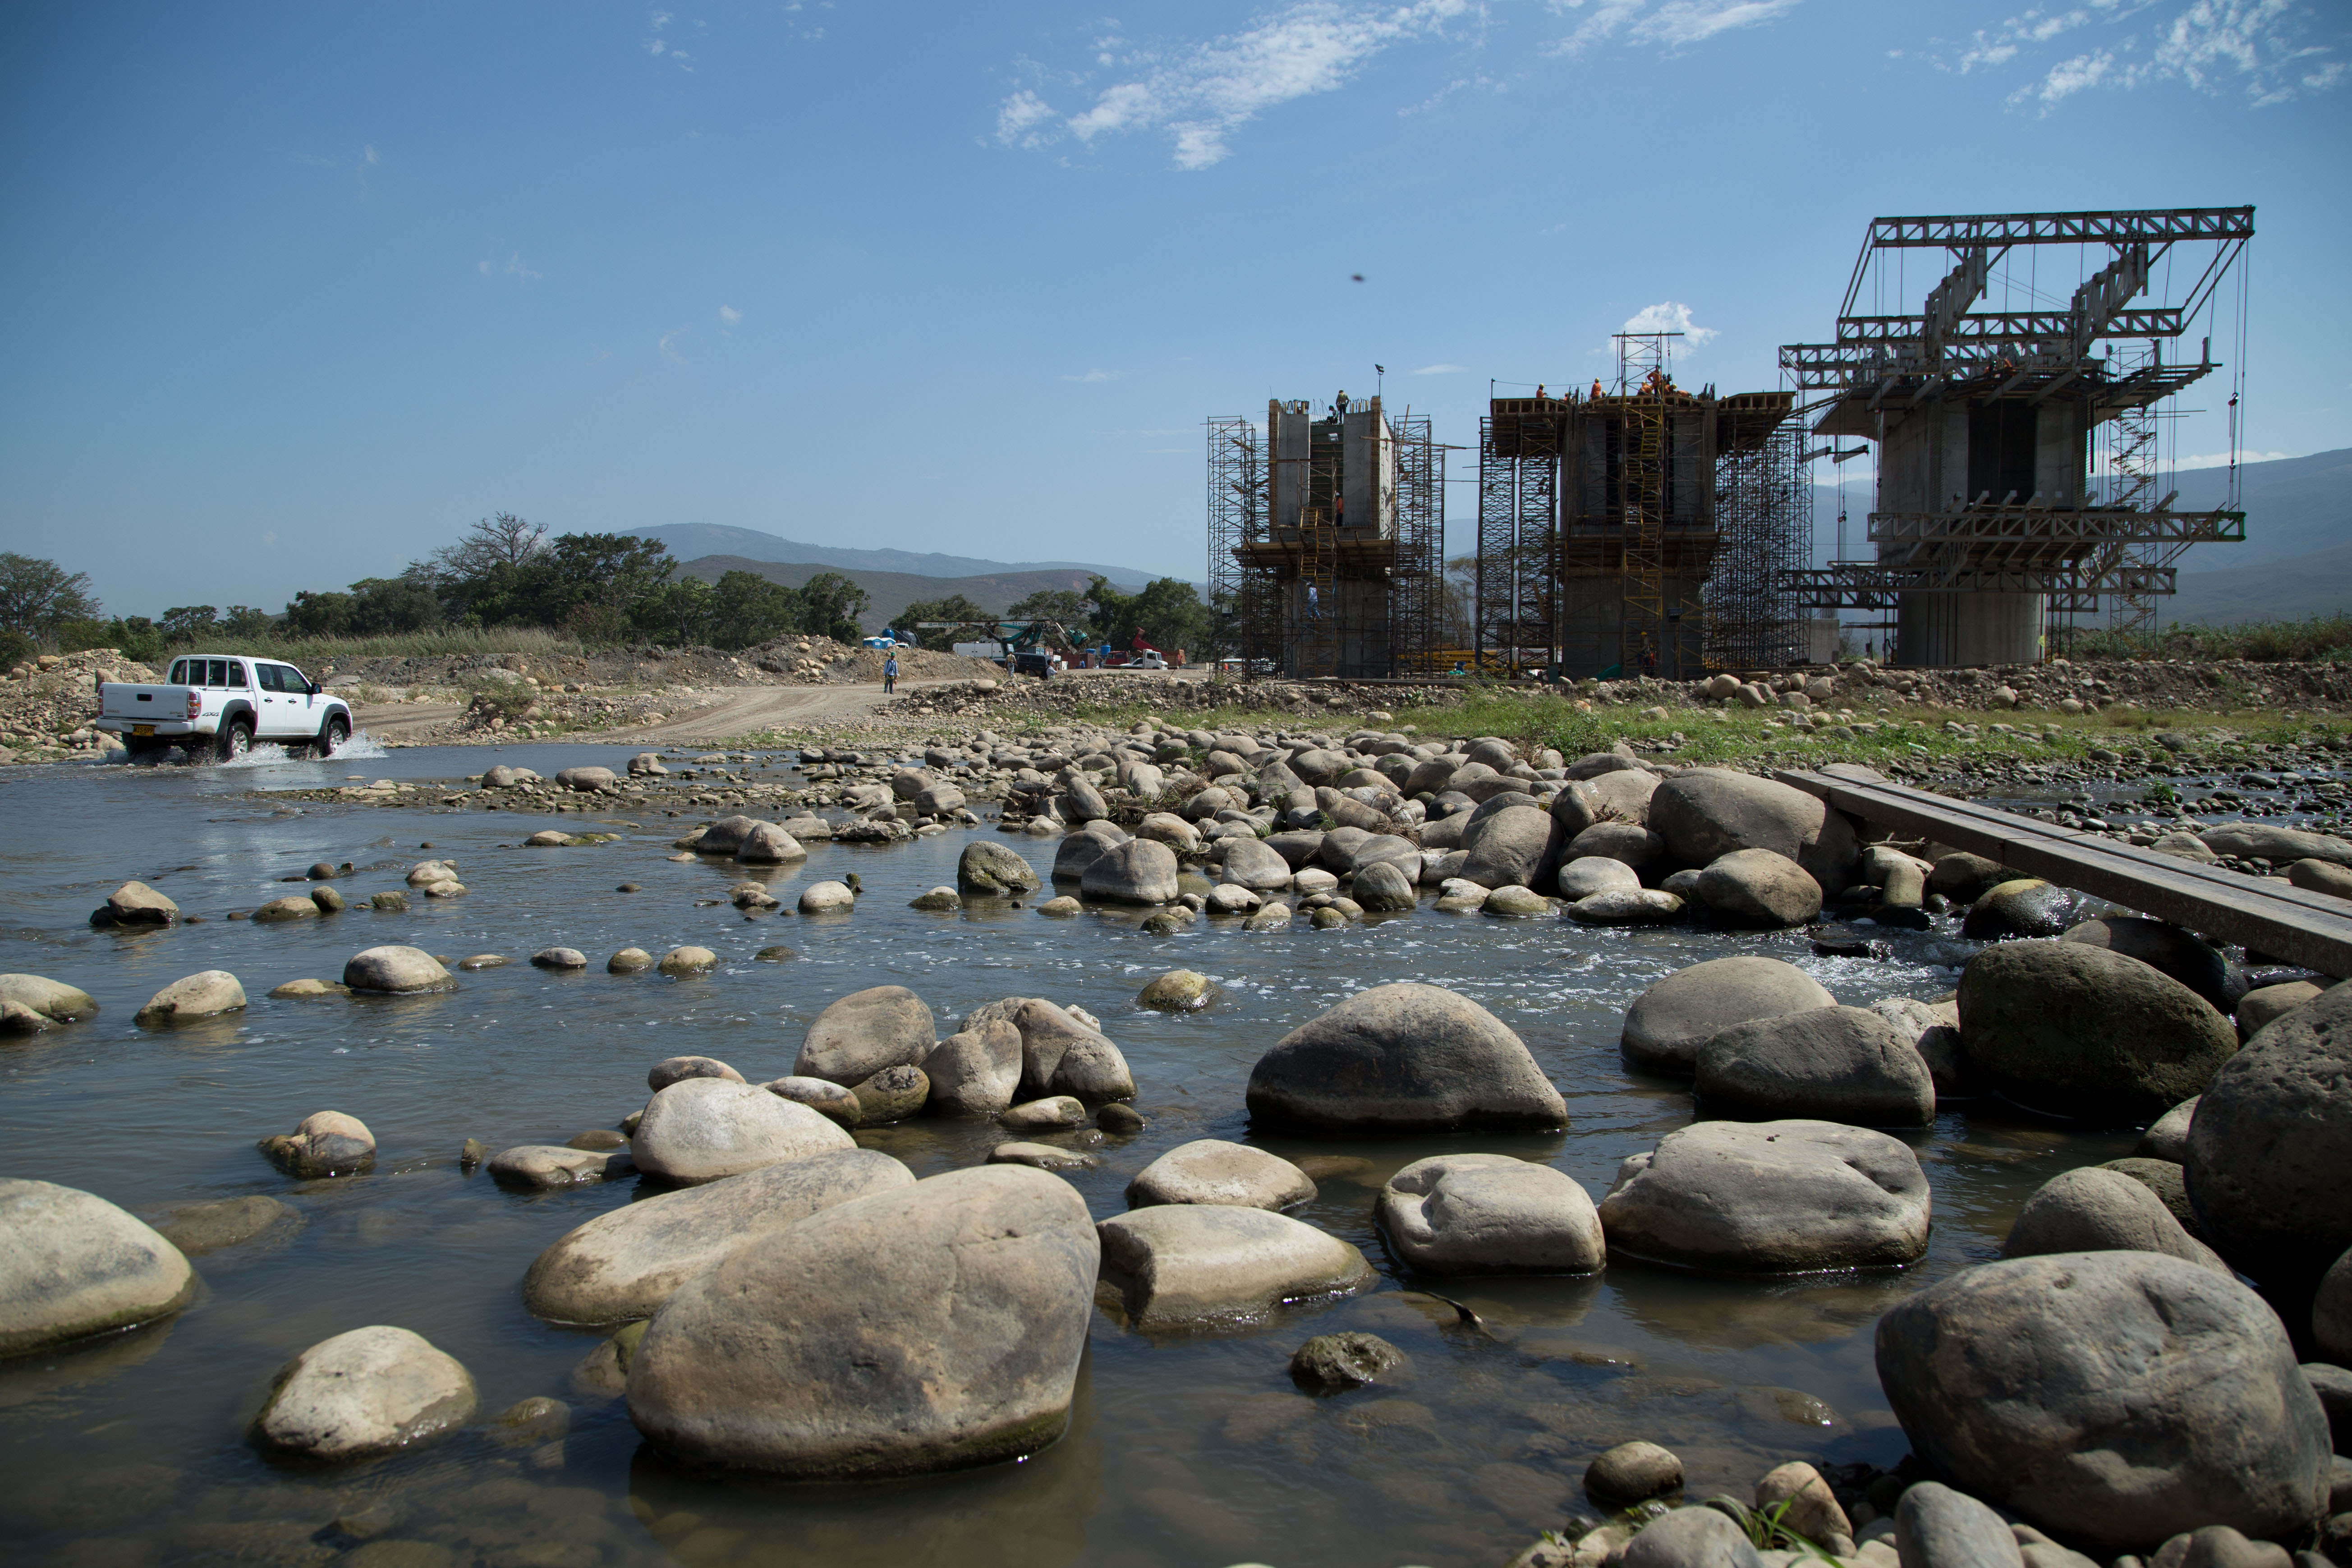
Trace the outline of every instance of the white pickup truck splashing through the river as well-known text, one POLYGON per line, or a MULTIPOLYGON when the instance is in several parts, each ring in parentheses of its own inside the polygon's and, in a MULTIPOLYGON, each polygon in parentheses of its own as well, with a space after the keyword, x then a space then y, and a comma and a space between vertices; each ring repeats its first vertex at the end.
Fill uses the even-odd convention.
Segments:
POLYGON ((99 682, 99 708, 96 726, 122 736, 132 759, 179 745, 230 762, 256 741, 332 757, 350 741, 350 705, 273 658, 191 654, 155 686, 99 682))

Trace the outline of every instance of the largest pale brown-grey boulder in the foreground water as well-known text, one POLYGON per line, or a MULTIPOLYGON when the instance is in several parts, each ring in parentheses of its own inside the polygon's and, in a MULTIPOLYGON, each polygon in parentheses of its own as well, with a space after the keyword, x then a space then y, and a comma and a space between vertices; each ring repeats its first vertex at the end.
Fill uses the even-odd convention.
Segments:
POLYGON ((1101 1246, 1021 1166, 835 1204, 689 1279, 628 1359, 628 1415, 689 1465, 797 1479, 964 1469, 1070 1420, 1101 1246))

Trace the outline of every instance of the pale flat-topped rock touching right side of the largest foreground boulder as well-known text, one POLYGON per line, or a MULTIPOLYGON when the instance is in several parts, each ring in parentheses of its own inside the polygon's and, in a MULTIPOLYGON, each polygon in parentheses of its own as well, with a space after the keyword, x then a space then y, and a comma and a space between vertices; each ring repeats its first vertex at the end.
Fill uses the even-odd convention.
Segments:
POLYGON ((1138 1328, 1256 1316, 1371 1284, 1364 1253, 1265 1208, 1162 1204, 1096 1225, 1103 1281, 1138 1328))

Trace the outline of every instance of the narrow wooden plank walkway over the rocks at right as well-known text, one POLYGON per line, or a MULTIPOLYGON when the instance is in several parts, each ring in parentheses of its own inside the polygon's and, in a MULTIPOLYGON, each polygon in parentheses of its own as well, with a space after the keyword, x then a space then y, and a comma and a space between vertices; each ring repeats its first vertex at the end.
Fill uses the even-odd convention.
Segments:
POLYGON ((2133 849, 2096 832, 2037 823, 2013 811, 1929 795, 1860 766, 1776 771, 1785 785, 1900 837, 1933 839, 1999 860, 2027 877, 2077 889, 2204 936, 2253 947, 2328 976, 2352 976, 2352 903, 2284 882, 2133 849))

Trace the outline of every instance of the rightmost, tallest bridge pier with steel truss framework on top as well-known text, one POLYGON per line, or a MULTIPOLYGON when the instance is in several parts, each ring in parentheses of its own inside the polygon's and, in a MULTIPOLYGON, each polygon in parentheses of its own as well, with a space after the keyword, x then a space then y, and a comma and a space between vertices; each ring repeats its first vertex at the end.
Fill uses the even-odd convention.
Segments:
POLYGON ((2237 397, 2232 505, 2173 512, 2157 496, 2154 421, 2220 369, 2213 322, 2223 284, 2244 287, 2251 237, 2251 207, 1872 221, 1835 341, 1780 348, 1799 390, 1830 393, 1813 430, 1870 440, 1879 458, 1875 559, 1790 569, 1799 604, 1893 609, 1907 665, 2030 663, 2100 597, 2114 628, 2152 630, 2180 552, 2244 538, 2237 397), (2042 303, 2034 273, 2037 247, 2056 244, 2103 247, 2063 310, 2042 303), (1917 313, 1886 313, 1889 292, 1903 303, 1910 249, 1947 252, 1950 270, 1917 313), (1994 294, 2027 308, 1994 308, 1994 294), (2199 322, 2194 357, 2166 353, 2199 322), (2098 494, 2091 449, 2107 425, 2098 494))

